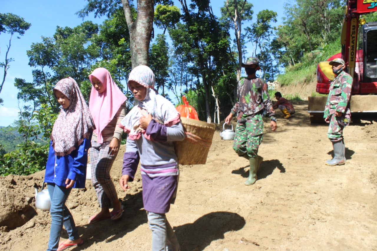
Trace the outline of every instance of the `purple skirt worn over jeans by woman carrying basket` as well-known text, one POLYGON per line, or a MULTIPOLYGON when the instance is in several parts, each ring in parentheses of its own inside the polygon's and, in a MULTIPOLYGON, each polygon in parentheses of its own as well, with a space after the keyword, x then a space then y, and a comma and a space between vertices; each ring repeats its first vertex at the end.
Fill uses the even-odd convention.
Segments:
POLYGON ((149 177, 142 174, 144 210, 164 214, 174 203, 178 187, 178 175, 149 177))

